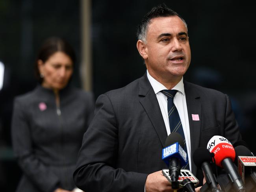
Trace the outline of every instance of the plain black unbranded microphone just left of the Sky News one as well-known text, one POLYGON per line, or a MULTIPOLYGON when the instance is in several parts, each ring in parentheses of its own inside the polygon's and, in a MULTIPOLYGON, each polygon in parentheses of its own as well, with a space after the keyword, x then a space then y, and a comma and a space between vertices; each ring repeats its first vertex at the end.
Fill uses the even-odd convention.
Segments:
MULTIPOLYGON (((197 148, 193 153, 193 160, 196 166, 201 168, 204 173, 207 184, 204 184, 203 189, 207 190, 207 188, 210 188, 210 191, 212 192, 220 192, 221 190, 218 188, 217 179, 213 174, 210 165, 213 156, 214 153, 210 153, 206 148, 197 148)), ((202 188, 200 191, 202 191, 202 188)))

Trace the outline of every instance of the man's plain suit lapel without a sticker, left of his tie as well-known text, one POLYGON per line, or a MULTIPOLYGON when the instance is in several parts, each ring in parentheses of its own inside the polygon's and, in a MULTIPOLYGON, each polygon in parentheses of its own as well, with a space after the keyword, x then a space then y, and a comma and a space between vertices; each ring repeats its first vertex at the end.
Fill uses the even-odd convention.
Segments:
POLYGON ((167 131, 156 94, 148 81, 147 73, 139 82, 139 96, 140 103, 148 114, 148 117, 152 122, 156 133, 158 134, 161 144, 164 147, 165 139, 167 138, 167 131))

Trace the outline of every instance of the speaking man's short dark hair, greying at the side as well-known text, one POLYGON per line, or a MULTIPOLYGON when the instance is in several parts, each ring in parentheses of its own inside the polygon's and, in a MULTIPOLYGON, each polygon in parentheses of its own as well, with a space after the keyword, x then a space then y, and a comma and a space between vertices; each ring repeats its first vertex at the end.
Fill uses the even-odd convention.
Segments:
MULTIPOLYGON (((151 23, 151 20, 153 18, 157 18, 157 17, 169 17, 169 16, 178 16, 180 17, 180 15, 178 13, 176 13, 175 11, 173 11, 172 9, 170 9, 169 7, 167 7, 165 4, 160 4, 156 7, 153 7, 141 20, 139 26, 138 26, 138 30, 137 30, 137 38, 138 40, 142 40, 144 42, 146 42, 146 37, 147 37, 147 30, 148 30, 148 25, 151 23)), ((185 22, 185 20, 180 17, 182 19, 182 21, 184 22, 184 24, 187 27, 187 24, 185 22)))

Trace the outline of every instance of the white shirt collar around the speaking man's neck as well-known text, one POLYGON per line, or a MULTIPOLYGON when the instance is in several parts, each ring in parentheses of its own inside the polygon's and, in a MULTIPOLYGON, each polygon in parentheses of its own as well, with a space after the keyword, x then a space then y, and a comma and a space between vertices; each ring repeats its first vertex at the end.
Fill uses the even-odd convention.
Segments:
MULTIPOLYGON (((150 76, 150 74, 148 73, 148 70, 147 70, 147 77, 155 94, 157 94, 161 90, 167 89, 163 84, 159 83, 156 79, 152 78, 152 76, 150 76)), ((180 91, 183 95, 185 94, 183 77, 180 80, 180 82, 178 82, 177 85, 173 87, 173 89, 180 91)))

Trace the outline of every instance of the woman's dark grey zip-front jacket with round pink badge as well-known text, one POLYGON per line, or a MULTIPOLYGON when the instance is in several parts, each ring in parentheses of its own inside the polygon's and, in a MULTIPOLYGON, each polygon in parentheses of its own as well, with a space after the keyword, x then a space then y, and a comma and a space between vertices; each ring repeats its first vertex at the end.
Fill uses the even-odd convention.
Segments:
POLYGON ((17 192, 75 188, 72 174, 95 102, 92 94, 70 86, 59 94, 60 115, 54 92, 40 85, 15 98, 12 142, 24 173, 17 192), (40 108, 40 103, 46 108, 40 108))

